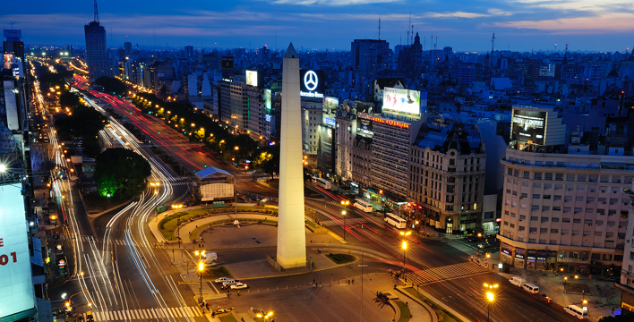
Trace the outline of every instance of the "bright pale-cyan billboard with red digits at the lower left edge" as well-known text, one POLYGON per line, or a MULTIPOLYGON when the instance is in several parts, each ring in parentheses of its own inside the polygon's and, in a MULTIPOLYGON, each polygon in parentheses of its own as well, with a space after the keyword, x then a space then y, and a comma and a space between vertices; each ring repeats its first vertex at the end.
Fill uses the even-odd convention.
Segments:
POLYGON ((21 187, 0 187, 0 319, 35 306, 21 187))

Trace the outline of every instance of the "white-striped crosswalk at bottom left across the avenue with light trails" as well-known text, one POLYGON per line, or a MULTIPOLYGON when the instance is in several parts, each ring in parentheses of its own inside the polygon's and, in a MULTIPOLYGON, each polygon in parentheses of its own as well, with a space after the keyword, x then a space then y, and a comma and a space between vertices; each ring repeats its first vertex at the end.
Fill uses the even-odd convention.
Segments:
POLYGON ((181 307, 166 309, 121 309, 103 312, 92 312, 95 321, 142 320, 159 318, 196 318, 202 317, 197 307, 181 307))

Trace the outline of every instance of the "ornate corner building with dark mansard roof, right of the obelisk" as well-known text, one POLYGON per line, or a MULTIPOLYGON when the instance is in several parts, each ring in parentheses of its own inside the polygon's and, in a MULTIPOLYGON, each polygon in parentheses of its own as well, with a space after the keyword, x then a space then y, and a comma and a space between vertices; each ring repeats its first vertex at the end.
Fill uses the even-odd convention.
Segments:
POLYGON ((409 155, 408 199, 445 233, 480 228, 486 154, 475 124, 436 119, 416 135, 409 155))

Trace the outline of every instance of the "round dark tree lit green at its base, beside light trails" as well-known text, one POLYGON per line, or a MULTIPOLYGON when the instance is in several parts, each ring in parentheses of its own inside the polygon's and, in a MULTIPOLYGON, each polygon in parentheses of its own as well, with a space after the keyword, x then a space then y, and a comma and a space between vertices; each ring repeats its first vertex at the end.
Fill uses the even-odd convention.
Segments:
POLYGON ((107 148, 96 157, 94 178, 102 196, 137 196, 147 188, 150 174, 148 160, 127 148, 107 148))

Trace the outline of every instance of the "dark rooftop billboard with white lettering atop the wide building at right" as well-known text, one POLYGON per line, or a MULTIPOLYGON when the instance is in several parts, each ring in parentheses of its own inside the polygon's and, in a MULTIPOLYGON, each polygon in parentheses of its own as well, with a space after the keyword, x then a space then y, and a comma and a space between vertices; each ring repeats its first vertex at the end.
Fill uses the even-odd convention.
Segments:
POLYGON ((513 109, 510 119, 510 140, 544 144, 547 112, 513 109))

